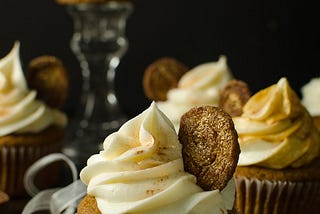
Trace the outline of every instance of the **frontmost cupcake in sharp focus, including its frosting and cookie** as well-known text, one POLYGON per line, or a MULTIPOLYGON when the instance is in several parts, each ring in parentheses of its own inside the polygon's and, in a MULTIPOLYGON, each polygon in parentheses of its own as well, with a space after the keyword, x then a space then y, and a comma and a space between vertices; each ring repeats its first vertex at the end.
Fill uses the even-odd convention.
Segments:
MULTIPOLYGON (((205 116, 207 110, 196 111, 205 116)), ((195 176, 184 170, 184 162, 191 161, 192 157, 188 155, 186 158, 182 147, 190 148, 189 141, 195 138, 199 138, 198 141, 212 138, 211 135, 192 135, 198 129, 193 112, 184 117, 184 128, 179 135, 181 144, 174 126, 153 102, 118 132, 109 135, 104 141, 103 151, 88 159, 87 166, 80 173, 81 180, 88 186, 87 196, 79 204, 78 214, 227 213, 232 210, 235 193, 232 174, 239 155, 236 132, 231 118, 217 109, 208 111, 215 115, 212 118, 220 118, 219 121, 227 121, 228 124, 224 131, 220 131, 218 126, 211 130, 218 132, 218 136, 230 136, 229 140, 213 137, 219 140, 212 140, 216 143, 207 145, 207 153, 215 151, 219 160, 229 163, 223 167, 219 161, 210 161, 207 175, 216 168, 221 172, 221 179, 214 176, 203 179, 201 183, 205 184, 205 190, 197 184, 197 173, 195 176), (220 171, 222 168, 225 170, 220 171)), ((206 125, 203 127, 208 128, 206 125)), ((196 167, 205 171, 203 166, 196 167)))

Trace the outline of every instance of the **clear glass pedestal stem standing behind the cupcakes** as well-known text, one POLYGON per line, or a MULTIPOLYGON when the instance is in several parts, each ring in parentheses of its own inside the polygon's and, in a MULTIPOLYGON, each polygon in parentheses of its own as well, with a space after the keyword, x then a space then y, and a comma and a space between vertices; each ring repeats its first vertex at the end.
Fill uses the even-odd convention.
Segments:
POLYGON ((116 68, 126 53, 125 27, 133 10, 130 2, 68 5, 74 22, 71 49, 82 70, 81 104, 71 121, 67 155, 76 162, 97 153, 106 136, 125 121, 114 89, 116 68))

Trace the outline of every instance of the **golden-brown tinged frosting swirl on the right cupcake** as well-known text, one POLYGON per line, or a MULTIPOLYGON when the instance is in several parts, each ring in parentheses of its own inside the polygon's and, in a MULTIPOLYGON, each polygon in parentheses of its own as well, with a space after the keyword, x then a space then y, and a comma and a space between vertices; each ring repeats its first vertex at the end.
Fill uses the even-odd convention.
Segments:
POLYGON ((319 156, 319 133, 286 78, 252 96, 233 120, 240 166, 296 168, 319 156))

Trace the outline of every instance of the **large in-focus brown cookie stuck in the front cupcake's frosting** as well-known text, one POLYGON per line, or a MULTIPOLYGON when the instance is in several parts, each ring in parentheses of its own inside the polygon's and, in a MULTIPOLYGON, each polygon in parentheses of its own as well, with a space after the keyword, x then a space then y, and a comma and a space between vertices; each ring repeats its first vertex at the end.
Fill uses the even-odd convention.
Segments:
POLYGON ((240 154, 238 135, 219 107, 194 107, 181 117, 179 141, 185 171, 204 190, 222 190, 232 178, 240 154))

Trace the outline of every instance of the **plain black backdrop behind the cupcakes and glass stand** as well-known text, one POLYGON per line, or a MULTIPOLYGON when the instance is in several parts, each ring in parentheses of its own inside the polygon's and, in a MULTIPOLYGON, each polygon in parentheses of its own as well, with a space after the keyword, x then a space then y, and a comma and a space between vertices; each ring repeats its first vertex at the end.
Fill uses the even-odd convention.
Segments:
MULTIPOLYGON (((320 15, 308 1, 136 0, 127 22, 130 47, 116 76, 120 104, 129 117, 149 105, 142 90, 144 69, 171 56, 193 67, 221 54, 236 78, 255 92, 286 76, 300 88, 320 76, 320 15)), ((73 25, 53 0, 0 1, 0 56, 21 41, 23 65, 50 54, 70 72, 72 116, 80 91, 80 67, 69 48, 73 25)))

